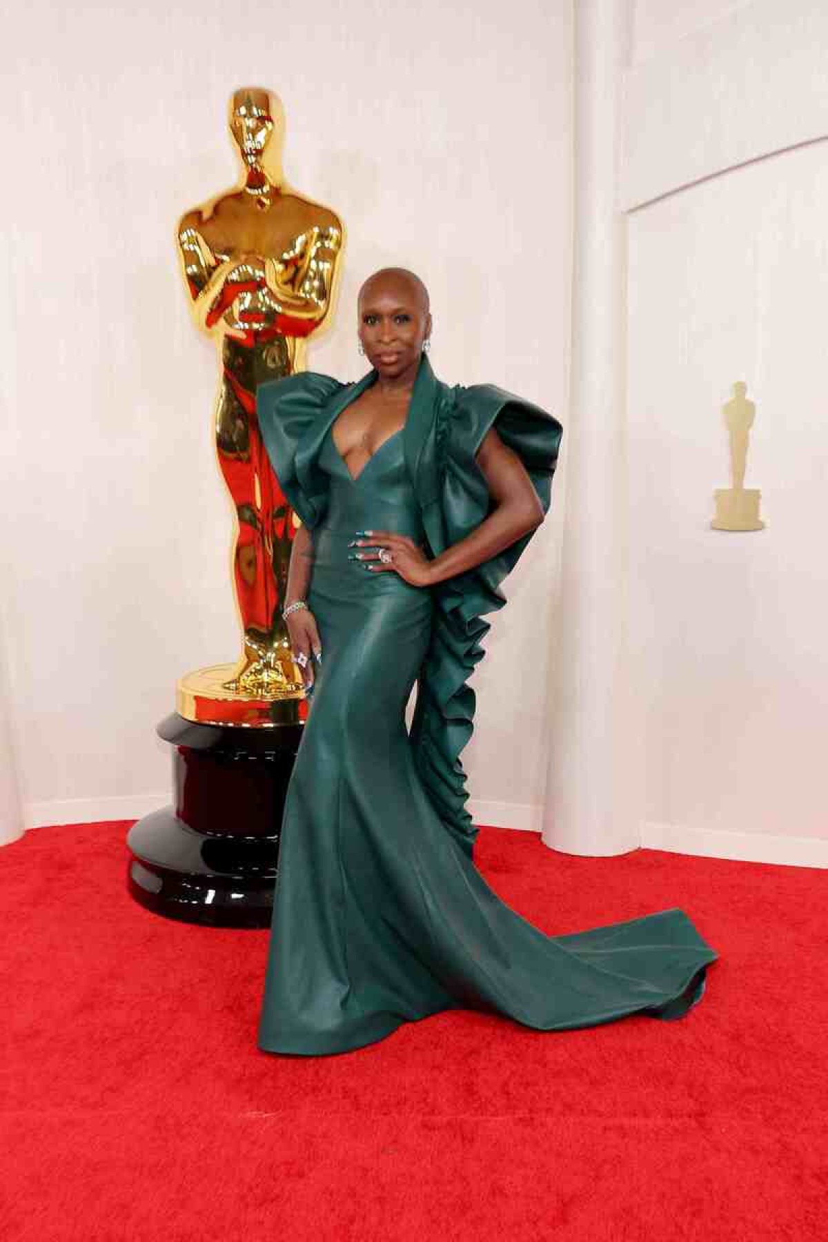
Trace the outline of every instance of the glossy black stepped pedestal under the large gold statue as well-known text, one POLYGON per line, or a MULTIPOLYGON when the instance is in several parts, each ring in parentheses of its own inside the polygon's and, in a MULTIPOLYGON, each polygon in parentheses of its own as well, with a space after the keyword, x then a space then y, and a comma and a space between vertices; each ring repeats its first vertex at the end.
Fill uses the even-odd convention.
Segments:
POLYGON ((159 725, 176 746, 176 805, 129 831, 135 900, 185 923, 269 927, 284 794, 303 728, 194 724, 178 713, 159 725))

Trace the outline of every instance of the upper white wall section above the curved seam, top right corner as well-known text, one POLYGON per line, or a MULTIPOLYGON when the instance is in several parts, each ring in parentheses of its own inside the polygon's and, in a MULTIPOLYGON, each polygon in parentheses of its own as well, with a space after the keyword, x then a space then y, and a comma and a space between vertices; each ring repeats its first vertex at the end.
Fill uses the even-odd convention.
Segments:
POLYGON ((694 9, 694 27, 674 21, 683 37, 664 41, 673 5, 637 5, 636 55, 648 55, 626 77, 624 210, 828 134, 823 0, 705 0, 684 5, 685 21, 694 9))

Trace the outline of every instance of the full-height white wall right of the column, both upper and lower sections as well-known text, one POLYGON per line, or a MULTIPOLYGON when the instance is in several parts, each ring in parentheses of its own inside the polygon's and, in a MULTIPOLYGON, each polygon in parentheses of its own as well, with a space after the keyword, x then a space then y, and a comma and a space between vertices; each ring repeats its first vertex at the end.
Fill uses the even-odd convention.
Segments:
POLYGON ((708 0, 678 6, 705 25, 677 40, 668 7, 637 5, 621 186, 657 197, 628 216, 642 841, 828 864, 828 11, 708 0), (750 534, 709 528, 736 380, 767 520, 750 534))

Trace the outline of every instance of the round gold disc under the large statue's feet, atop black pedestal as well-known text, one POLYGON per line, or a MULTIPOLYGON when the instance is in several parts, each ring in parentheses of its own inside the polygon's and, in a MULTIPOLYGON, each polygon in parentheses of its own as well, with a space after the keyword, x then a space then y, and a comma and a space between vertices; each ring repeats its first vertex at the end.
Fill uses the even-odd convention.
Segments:
POLYGON ((175 691, 175 708, 196 724, 233 725, 237 729, 274 729, 304 724, 308 699, 302 683, 286 683, 267 693, 232 688, 238 684, 237 664, 212 664, 186 673, 175 691))

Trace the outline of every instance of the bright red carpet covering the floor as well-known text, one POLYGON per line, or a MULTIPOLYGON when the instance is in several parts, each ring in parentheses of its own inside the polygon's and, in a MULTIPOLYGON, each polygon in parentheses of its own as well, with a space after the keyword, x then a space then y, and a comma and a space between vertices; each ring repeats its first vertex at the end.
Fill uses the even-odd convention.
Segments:
POLYGON ((160 919, 128 825, 0 850, 2 1242, 760 1242, 828 1235, 828 873, 483 828, 549 933, 680 905, 719 950, 678 1022, 441 1013, 256 1048, 267 932, 160 919))

